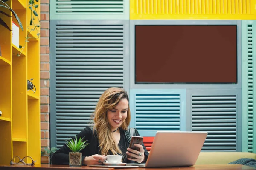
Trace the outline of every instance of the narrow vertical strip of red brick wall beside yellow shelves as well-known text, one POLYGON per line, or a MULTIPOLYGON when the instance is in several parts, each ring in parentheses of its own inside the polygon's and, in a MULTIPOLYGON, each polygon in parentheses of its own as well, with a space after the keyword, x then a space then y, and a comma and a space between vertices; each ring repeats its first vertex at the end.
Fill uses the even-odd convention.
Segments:
MULTIPOLYGON (((40 55, 40 86, 41 86, 41 150, 50 147, 50 47, 49 47, 49 0, 41 0, 41 55, 40 55)), ((49 163, 48 156, 41 157, 42 164, 49 163)))

